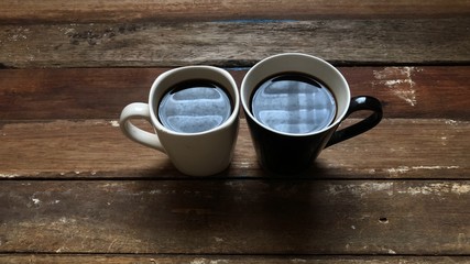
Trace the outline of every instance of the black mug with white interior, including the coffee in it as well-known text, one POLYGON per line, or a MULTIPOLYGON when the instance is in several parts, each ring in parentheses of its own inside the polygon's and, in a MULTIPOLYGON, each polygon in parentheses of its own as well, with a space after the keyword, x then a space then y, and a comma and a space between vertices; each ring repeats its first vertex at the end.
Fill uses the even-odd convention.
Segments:
POLYGON ((254 65, 243 78, 241 102, 258 160, 275 174, 305 170, 321 150, 374 128, 382 119, 378 99, 351 98, 337 68, 299 53, 274 55, 254 65), (337 131, 359 110, 371 114, 337 131))

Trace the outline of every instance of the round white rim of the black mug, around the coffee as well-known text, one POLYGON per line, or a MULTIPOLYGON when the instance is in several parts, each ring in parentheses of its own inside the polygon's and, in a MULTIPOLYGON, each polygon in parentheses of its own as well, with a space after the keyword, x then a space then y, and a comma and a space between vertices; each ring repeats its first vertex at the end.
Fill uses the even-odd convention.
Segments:
MULTIPOLYGON (((292 72, 298 72, 298 70, 292 70, 292 72)), ((282 73, 282 72, 272 72, 270 76, 274 76, 274 75, 280 74, 280 73, 282 73)), ((300 74, 307 74, 307 75, 316 77, 315 75, 308 74, 306 72, 300 72, 300 74)), ((266 75, 262 79, 265 79, 265 78, 267 78, 270 76, 266 75)), ((316 78, 318 78, 318 77, 316 77, 316 78)), ((320 79, 323 82, 326 82, 321 78, 318 78, 318 79, 320 79)), ((269 56, 269 57, 260 61, 259 63, 256 63, 253 67, 251 67, 248 70, 247 75, 243 77, 243 80, 241 82, 240 89, 241 89, 240 90, 241 103, 242 103, 244 113, 247 116, 249 116, 248 118, 250 118, 258 125, 260 125, 261 128, 263 128, 265 130, 269 130, 269 131, 271 131, 273 133, 276 133, 276 134, 288 135, 288 136, 309 136, 309 135, 316 135, 316 134, 320 134, 320 133, 324 133, 326 131, 329 131, 331 128, 337 127, 345 119, 345 116, 346 116, 346 113, 348 111, 348 108, 349 108, 349 105, 350 105, 350 100, 351 100, 350 88, 349 88, 349 85, 348 85, 345 76, 342 76, 342 74, 335 66, 332 66, 331 64, 329 64, 325 59, 316 57, 316 56, 313 56, 313 55, 304 54, 304 53, 281 53, 281 54, 269 56), (245 92, 247 92, 247 89, 249 89, 249 88, 245 88, 245 87, 248 86, 248 84, 247 84, 248 82, 248 78, 251 77, 251 75, 253 75, 253 73, 255 73, 260 67, 264 66, 267 63, 271 63, 272 59, 275 59, 275 58, 278 58, 278 57, 303 57, 303 58, 308 58, 308 59, 310 59, 311 62, 314 62, 316 64, 321 64, 321 65, 326 66, 345 85, 346 92, 347 92, 347 95, 346 95, 346 107, 345 107, 343 111, 341 111, 340 113, 338 113, 335 117, 335 120, 330 124, 326 125, 325 128, 323 128, 320 130, 315 130, 315 131, 307 132, 307 133, 287 133, 287 132, 282 132, 282 131, 278 131, 278 130, 275 130, 275 129, 272 129, 272 128, 265 125, 264 123, 262 123, 260 120, 258 120, 253 116, 253 113, 251 111, 251 108, 250 108, 250 100, 251 100, 251 98, 253 96, 253 92, 255 91, 255 87, 250 88, 250 94, 248 95, 248 101, 247 101, 245 100, 245 92)), ((334 94, 335 98, 337 98, 336 94, 331 90, 331 88, 328 88, 328 89, 330 90, 330 92, 334 94)), ((338 103, 338 99, 336 99, 336 100, 337 100, 337 103, 338 103)), ((338 110, 338 108, 337 108, 337 110, 338 110)))

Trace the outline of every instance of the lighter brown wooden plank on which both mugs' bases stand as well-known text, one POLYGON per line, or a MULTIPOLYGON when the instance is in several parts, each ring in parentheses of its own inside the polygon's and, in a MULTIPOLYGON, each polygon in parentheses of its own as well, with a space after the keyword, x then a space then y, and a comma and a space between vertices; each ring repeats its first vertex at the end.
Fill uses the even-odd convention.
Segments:
MULTIPOLYGON (((0 177, 185 178, 166 155, 128 140, 118 125, 116 120, 4 123, 0 177)), ((374 130, 325 150, 310 170, 296 177, 468 178, 469 132, 469 121, 385 119, 374 130)), ((218 177, 264 176, 242 120, 232 165, 218 177)))

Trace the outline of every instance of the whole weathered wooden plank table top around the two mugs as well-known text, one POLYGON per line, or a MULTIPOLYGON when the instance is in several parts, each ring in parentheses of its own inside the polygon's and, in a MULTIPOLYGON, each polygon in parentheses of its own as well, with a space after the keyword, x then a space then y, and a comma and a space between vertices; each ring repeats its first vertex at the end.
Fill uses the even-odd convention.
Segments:
POLYGON ((2 0, 0 263, 468 263, 469 84, 468 0, 2 0), (243 114, 214 177, 120 132, 170 68, 240 85, 284 52, 332 63, 383 121, 277 177, 243 114))

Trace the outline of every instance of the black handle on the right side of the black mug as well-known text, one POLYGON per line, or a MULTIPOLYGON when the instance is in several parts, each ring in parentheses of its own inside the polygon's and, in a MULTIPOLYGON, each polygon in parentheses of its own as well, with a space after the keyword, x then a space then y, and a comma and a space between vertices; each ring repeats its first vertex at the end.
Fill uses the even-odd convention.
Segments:
POLYGON ((369 111, 372 111, 373 113, 371 113, 371 116, 361 120, 358 123, 351 124, 339 131, 335 131, 335 133, 331 135, 331 139, 328 141, 325 147, 328 147, 341 141, 349 140, 356 135, 362 134, 365 131, 378 125, 382 120, 382 116, 383 116, 382 103, 379 101, 379 99, 370 96, 358 96, 358 97, 351 98, 348 112, 346 113, 342 120, 347 119, 351 113, 360 110, 369 110, 369 111))

